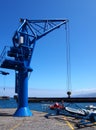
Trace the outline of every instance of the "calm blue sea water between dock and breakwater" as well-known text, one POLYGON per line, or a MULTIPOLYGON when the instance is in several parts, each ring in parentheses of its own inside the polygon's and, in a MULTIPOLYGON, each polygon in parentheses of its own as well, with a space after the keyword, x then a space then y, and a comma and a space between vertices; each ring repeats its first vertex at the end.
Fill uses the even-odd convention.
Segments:
MULTIPOLYGON (((29 108, 31 110, 36 110, 36 111, 43 111, 44 110, 44 107, 50 105, 52 103, 29 103, 29 108)), ((74 108, 75 107, 80 107, 80 108, 85 108, 85 106, 88 106, 88 105, 95 105, 96 106, 96 102, 94 103, 65 103, 65 106, 66 105, 70 105, 70 106, 73 106, 74 108)), ((17 102, 16 100, 14 100, 13 98, 10 98, 9 100, 0 100, 0 108, 17 108, 17 102)))

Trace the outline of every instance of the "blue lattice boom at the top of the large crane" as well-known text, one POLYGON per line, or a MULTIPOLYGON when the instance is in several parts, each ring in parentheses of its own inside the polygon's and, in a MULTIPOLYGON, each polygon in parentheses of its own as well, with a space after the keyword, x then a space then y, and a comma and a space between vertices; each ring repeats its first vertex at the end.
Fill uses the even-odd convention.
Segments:
POLYGON ((13 36, 13 43, 18 43, 17 38, 23 34, 30 37, 30 45, 34 43, 35 40, 39 40, 46 34, 52 32, 53 30, 59 28, 63 24, 66 24, 68 20, 28 20, 20 19, 20 27, 16 30, 13 36), (17 41, 17 42, 16 42, 17 41))

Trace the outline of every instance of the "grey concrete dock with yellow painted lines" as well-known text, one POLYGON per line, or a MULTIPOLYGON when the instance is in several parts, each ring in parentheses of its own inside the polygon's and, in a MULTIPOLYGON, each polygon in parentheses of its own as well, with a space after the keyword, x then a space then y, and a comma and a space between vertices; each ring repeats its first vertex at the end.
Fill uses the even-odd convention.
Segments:
MULTIPOLYGON (((15 109, 0 109, 0 130, 76 130, 79 120, 64 115, 45 118, 45 112, 32 111, 32 117, 13 117, 15 109)), ((96 130, 91 124, 82 130, 96 130)))

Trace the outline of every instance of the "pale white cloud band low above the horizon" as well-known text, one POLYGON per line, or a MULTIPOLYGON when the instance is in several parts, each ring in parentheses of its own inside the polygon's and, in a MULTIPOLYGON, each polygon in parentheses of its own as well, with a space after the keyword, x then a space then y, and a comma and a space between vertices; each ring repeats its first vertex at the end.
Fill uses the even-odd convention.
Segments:
MULTIPOLYGON (((92 94, 95 95, 96 88, 88 88, 88 89, 79 89, 72 91, 72 96, 91 96, 92 94)), ((10 96, 13 97, 15 95, 15 87, 7 87, 0 88, 0 96, 10 96)), ((67 97, 66 91, 63 89, 35 89, 29 88, 28 89, 29 97, 67 97)))

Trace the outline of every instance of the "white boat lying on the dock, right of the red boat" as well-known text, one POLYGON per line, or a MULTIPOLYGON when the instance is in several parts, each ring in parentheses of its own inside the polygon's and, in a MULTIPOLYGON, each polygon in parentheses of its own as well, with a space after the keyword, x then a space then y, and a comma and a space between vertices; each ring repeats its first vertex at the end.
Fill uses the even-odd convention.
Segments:
POLYGON ((75 108, 72 108, 72 107, 65 107, 65 110, 67 112, 72 113, 72 114, 78 114, 78 115, 82 115, 82 116, 86 115, 86 113, 83 109, 75 109, 75 108))

